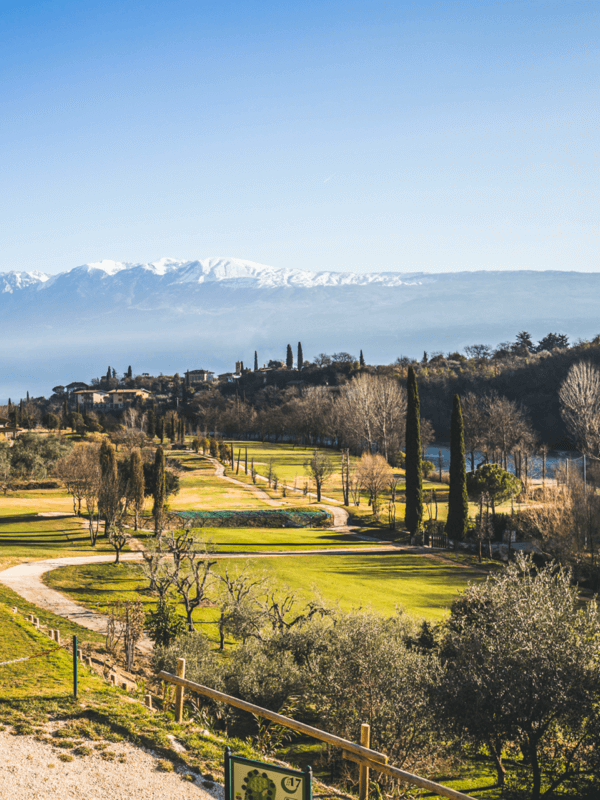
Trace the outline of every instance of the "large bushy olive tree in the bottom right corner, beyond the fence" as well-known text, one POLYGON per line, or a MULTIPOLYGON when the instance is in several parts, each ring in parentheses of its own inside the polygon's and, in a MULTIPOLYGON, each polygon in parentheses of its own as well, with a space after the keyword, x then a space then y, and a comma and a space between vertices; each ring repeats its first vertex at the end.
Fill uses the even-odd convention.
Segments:
POLYGON ((528 797, 584 780, 600 699, 600 620, 570 572, 522 554, 454 601, 443 643, 445 716, 494 758, 523 756, 528 797))

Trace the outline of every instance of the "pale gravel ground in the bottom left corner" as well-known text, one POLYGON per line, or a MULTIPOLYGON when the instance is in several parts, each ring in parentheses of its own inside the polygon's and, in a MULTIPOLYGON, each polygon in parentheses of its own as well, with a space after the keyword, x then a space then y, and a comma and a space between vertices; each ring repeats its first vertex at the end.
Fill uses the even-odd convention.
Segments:
MULTIPOLYGON (((87 743, 91 747, 93 742, 87 743)), ((94 751, 64 762, 61 752, 31 736, 0 732, 0 798, 3 800, 223 800, 224 790, 203 780, 188 782, 183 772, 157 771, 149 751, 120 742, 111 744, 114 761, 94 751), (123 759, 123 762, 119 761, 123 759)))

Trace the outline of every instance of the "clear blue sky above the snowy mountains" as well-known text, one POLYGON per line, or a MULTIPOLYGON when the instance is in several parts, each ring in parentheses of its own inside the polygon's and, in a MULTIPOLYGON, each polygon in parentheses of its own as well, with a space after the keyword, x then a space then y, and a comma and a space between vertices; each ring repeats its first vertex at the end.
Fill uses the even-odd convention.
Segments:
POLYGON ((598 271, 598 0, 0 0, 0 271, 598 271))

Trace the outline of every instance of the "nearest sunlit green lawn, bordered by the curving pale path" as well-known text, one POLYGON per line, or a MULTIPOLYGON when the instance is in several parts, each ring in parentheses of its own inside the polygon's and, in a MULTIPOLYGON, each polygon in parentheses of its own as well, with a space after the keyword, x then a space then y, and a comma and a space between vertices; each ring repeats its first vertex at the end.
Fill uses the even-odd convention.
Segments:
MULTIPOLYGON (((462 565, 402 553, 219 559, 215 572, 222 574, 225 569, 230 574, 246 569, 270 579, 282 592, 294 590, 301 600, 317 596, 345 611, 362 608, 385 615, 402 607, 415 617, 433 621, 445 616, 469 581, 483 577, 462 565)), ((115 600, 141 600, 148 608, 156 603, 136 564, 62 567, 44 579, 78 603, 98 610, 105 610, 115 600)), ((216 598, 217 591, 215 582, 210 596, 216 598)), ((216 616, 217 609, 209 606, 198 609, 196 618, 208 623, 216 616)))

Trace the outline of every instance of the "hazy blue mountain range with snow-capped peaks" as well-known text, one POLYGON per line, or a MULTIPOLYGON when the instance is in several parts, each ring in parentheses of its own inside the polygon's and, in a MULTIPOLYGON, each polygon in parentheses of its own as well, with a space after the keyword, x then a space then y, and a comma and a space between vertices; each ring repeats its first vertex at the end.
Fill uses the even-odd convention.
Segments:
POLYGON ((236 360, 424 350, 600 331, 600 273, 314 272, 235 258, 101 261, 56 275, 0 273, 0 398, 46 394, 107 366, 172 374, 236 360))

